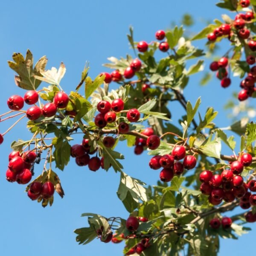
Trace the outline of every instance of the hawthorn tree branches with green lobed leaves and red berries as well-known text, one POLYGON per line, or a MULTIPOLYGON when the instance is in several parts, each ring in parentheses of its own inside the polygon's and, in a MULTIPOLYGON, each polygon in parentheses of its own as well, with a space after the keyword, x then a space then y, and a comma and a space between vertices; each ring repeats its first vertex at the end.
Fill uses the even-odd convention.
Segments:
MULTIPOLYGON (((221 40, 230 42, 230 49, 209 67, 217 71, 221 87, 231 84, 233 74, 241 78, 238 100, 256 96, 256 0, 221 0, 217 6, 236 16, 222 15, 223 21, 214 20, 190 38, 182 26, 175 26, 157 31, 156 41, 148 44, 134 41, 130 28, 134 57, 109 58, 104 66, 114 71, 94 79, 86 65, 80 83, 69 93, 60 85, 66 71, 63 63, 58 70, 46 70, 44 56, 33 66, 29 50, 25 57, 14 53, 8 61, 17 73, 16 85, 26 93, 8 99, 10 111, 0 115, 1 122, 16 117, 17 121, 0 134, 0 143, 24 118, 32 137, 12 143, 6 179, 28 184, 28 197, 46 207, 52 206, 55 191, 64 196, 56 169, 63 171, 70 157, 93 172, 105 169, 120 175, 117 196, 127 216, 83 213, 88 226, 75 230, 79 244, 96 238, 105 243, 124 240, 125 255, 179 255, 186 250, 186 255, 214 256, 219 237, 236 238, 250 230, 246 222, 256 221, 256 124, 241 119, 230 125, 228 129, 240 136, 235 141, 225 133, 227 128, 213 122, 218 113, 212 107, 198 113, 200 97, 192 105, 184 96, 189 76, 201 71, 204 63, 204 50, 192 42, 204 38, 208 55, 221 40), (155 57, 159 51, 161 59, 155 57), (194 64, 188 67, 189 60, 194 64), (42 81, 48 86, 40 88, 42 81), (119 85, 117 90, 111 89, 113 82, 119 85), (170 122, 172 101, 184 108, 178 127, 170 122), (81 134, 81 144, 72 142, 74 134, 81 134), (124 156, 115 151, 121 141, 134 146, 135 154, 147 149, 152 156, 148 168, 160 173, 157 184, 146 186, 123 171, 124 156), (232 155, 221 154, 223 143, 232 155), (234 151, 237 143, 239 152, 234 151), (38 175, 36 166, 42 161, 38 175), (239 207, 239 214, 226 216, 239 207)), ((207 73, 204 82, 208 79, 207 73)))

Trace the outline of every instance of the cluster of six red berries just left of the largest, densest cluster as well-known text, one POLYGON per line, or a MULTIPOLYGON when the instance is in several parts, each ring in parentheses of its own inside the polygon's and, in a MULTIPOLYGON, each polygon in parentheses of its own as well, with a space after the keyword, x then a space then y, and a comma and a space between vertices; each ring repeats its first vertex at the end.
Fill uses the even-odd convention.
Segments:
POLYGON ((163 156, 156 155, 149 161, 149 167, 157 170, 163 168, 160 172, 160 180, 169 182, 174 175, 181 175, 184 168, 187 170, 193 169, 196 166, 196 158, 193 155, 186 155, 186 148, 184 146, 175 146, 172 154, 165 154, 163 156), (182 160, 183 163, 178 160, 182 160))

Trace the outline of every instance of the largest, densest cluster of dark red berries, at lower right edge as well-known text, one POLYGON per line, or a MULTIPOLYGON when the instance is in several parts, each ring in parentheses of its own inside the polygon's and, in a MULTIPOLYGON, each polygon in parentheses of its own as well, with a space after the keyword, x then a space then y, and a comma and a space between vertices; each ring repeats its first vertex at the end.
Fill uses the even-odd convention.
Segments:
POLYGON ((256 205, 256 195, 248 192, 256 191, 256 181, 251 180, 244 183, 241 173, 244 167, 250 166, 252 156, 248 153, 241 154, 239 160, 230 164, 230 169, 225 169, 221 174, 215 174, 211 171, 201 172, 199 178, 202 182, 200 190, 202 194, 209 196, 209 202, 213 205, 221 204, 222 200, 232 202, 239 198, 239 205, 242 209, 248 209, 251 205, 256 205), (255 184, 255 188, 254 188, 255 184))

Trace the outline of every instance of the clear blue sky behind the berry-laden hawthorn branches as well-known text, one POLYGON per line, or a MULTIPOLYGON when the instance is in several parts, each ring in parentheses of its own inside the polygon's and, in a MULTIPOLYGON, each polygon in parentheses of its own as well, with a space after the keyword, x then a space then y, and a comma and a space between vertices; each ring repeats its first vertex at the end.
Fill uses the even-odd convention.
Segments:
MULTIPOLYGON (((202 20, 220 19, 224 13, 215 7, 215 2, 217 0, 158 0, 154 3, 145 0, 1 1, 1 113, 7 110, 6 100, 9 96, 24 94, 23 90, 15 86, 14 72, 6 62, 11 59, 13 52, 25 53, 29 48, 35 60, 47 55, 48 68, 58 67, 63 61, 67 73, 61 85, 64 90, 70 91, 79 83, 85 61, 90 61, 90 76, 94 77, 102 71, 107 71, 101 66, 107 61, 107 57, 133 54, 126 39, 130 25, 134 26, 135 40, 151 41, 154 40, 155 31, 168 28, 171 21, 178 22, 184 13, 190 12, 197 21, 193 30, 200 30, 203 27, 202 20)), ((222 49, 220 54, 224 52, 226 49, 222 49)), ((230 120, 226 118, 223 105, 232 91, 238 89, 239 81, 234 82, 231 88, 223 90, 217 79, 213 79, 207 87, 200 87, 200 77, 193 76, 185 95, 193 103, 201 95, 201 112, 204 112, 207 106, 214 106, 219 111, 216 119, 218 125, 227 126, 230 120)), ((173 110, 172 119, 176 123, 178 116, 184 114, 183 109, 175 104, 170 108, 173 110)), ((5 131, 10 124, 11 122, 1 123, 0 131, 5 131)), ((87 219, 80 217, 83 212, 94 212, 108 217, 128 216, 116 196, 119 175, 113 170, 108 173, 102 170, 90 172, 76 166, 72 159, 63 173, 58 171, 65 197, 61 199, 55 196, 53 206, 43 209, 40 204, 27 198, 24 193, 25 186, 11 184, 5 180, 9 145, 12 140, 18 138, 29 138, 24 126, 13 129, 0 147, 0 254, 122 255, 123 243, 104 244, 95 240, 81 246, 76 243, 73 233, 74 229, 87 225, 87 219)), ((81 140, 77 139, 78 142, 81 140)), ((158 172, 148 168, 149 157, 145 153, 142 157, 137 157, 133 154, 133 148, 122 145, 119 146, 119 151, 126 157, 122 161, 125 172, 148 184, 156 183, 158 172)), ((41 168, 38 166, 35 172, 39 175, 41 168)), ((252 244, 255 235, 256 232, 253 231, 239 241, 222 240, 219 255, 251 253, 254 250, 252 244)))

